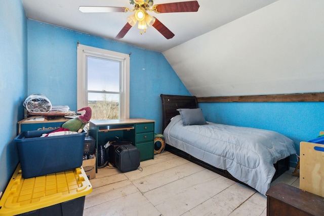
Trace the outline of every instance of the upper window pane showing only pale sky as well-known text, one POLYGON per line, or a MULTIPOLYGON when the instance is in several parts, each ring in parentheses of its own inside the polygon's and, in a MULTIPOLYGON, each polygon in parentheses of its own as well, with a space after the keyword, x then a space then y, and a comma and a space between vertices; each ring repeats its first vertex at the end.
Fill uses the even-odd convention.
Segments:
POLYGON ((119 92, 120 62, 89 57, 88 90, 119 92))

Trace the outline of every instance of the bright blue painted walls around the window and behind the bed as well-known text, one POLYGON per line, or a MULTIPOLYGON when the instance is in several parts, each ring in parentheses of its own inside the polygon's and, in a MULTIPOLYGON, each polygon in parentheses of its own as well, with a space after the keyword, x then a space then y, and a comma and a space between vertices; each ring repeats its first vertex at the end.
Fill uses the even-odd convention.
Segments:
MULTIPOLYGON (((1 191, 18 163, 13 139, 17 135, 17 122, 23 118, 24 99, 31 93, 44 93, 53 104, 67 104, 76 110, 77 41, 132 53, 130 117, 156 120, 156 133, 161 133, 162 122, 159 94, 190 95, 162 53, 27 20, 20 0, 0 0, 0 119, 4 128, 0 143, 1 191)), ((298 153, 300 141, 314 138, 324 130, 323 102, 199 103, 199 106, 208 121, 282 133, 294 140, 298 153)))

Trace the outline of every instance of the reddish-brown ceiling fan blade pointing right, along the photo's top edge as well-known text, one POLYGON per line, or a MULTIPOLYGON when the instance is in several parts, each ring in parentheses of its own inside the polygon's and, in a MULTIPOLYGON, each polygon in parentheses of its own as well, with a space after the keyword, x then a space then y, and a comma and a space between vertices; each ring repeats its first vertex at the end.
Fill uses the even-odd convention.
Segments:
POLYGON ((155 7, 157 13, 197 12, 199 4, 197 1, 189 1, 160 4, 155 7))

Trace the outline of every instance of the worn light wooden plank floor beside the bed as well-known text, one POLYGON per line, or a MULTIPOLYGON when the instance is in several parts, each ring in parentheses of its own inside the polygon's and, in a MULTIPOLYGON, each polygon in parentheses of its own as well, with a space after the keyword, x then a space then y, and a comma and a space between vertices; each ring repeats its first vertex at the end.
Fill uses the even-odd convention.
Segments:
MULTIPOLYGON (((299 188, 293 168, 271 185, 299 188)), ((168 151, 121 173, 98 169, 84 215, 266 215, 266 197, 168 151)))

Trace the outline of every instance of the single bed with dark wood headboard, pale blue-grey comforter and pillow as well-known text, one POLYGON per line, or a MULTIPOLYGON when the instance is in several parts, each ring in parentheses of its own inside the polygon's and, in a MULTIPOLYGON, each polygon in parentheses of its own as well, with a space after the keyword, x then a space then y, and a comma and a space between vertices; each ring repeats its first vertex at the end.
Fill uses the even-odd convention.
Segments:
POLYGON ((195 96, 160 96, 166 150, 263 195, 271 181, 289 170, 289 157, 296 149, 288 137, 269 130, 204 122, 195 96))

